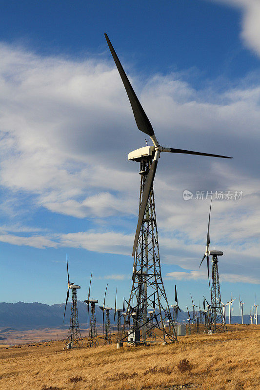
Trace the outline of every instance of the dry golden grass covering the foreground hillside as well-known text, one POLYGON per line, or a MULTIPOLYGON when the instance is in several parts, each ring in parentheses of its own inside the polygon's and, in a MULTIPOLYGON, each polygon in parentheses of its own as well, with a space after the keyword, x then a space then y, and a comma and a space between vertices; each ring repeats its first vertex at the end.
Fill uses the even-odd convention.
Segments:
POLYGON ((61 342, 3 348, 0 390, 260 389, 260 326, 240 329, 120 350, 113 344, 62 351, 61 342))

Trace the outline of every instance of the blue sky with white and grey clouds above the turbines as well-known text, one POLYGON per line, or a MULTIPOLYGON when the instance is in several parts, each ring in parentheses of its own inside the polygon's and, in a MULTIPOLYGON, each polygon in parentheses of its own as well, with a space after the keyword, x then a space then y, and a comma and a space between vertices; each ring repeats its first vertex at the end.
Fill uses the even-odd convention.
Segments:
MULTIPOLYGON (((162 275, 180 307, 209 298, 211 243, 222 300, 260 296, 260 6, 254 0, 9 1, 0 22, 0 300, 60 303, 71 280, 113 305, 130 292, 143 146, 107 32, 163 146, 233 156, 160 158, 154 187, 162 275), (183 200, 183 191, 194 193, 183 200), (75 279, 75 280, 74 280, 75 279), (10 289, 10 281, 12 288, 10 289), (119 299, 120 299, 119 298, 119 299)), ((237 299, 238 300, 238 299, 237 299)), ((238 314, 238 304, 234 305, 238 314)))

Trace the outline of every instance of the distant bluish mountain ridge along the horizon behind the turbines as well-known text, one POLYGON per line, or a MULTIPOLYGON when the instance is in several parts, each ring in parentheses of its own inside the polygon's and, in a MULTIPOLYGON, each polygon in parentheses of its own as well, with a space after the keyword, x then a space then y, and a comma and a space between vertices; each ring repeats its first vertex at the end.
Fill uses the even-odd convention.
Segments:
MULTIPOLYGON (((16 330, 55 328, 63 325, 65 303, 46 305, 44 303, 5 303, 0 302, 0 328, 11 327, 16 330)), ((67 305, 64 324, 70 321, 71 305, 67 305)), ((79 323, 87 322, 87 305, 83 301, 78 301, 79 323)), ((178 321, 186 321, 186 312, 178 313, 178 321)), ((102 323, 102 311, 96 307, 97 323, 102 323)), ((113 323, 114 312, 111 311, 110 322, 113 323)), ((227 323, 229 318, 226 317, 227 323)), ((232 316, 232 323, 241 324, 241 316, 232 316)), ((244 323, 249 323, 249 315, 244 315, 244 323)))

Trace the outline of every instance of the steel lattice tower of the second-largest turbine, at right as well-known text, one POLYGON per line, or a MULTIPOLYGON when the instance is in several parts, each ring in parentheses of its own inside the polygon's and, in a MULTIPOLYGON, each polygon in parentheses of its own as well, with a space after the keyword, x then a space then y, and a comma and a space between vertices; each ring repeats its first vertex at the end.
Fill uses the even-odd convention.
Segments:
POLYGON ((226 322, 223 318, 223 311, 221 308, 220 280, 217 256, 212 256, 211 304, 208 315, 207 331, 227 331, 226 322))

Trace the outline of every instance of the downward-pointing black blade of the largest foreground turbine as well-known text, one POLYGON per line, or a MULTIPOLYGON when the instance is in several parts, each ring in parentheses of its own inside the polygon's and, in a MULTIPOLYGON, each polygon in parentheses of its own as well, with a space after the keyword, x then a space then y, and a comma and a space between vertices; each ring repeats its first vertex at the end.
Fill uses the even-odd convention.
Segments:
POLYGON ((138 223, 137 223, 137 228, 136 228, 136 235, 135 235, 135 240, 134 240, 132 256, 134 256, 135 252, 136 252, 136 247, 137 247, 137 243, 138 243, 138 239, 139 239, 142 220, 143 220, 143 216, 145 214, 146 205, 147 205, 150 191, 151 191, 151 188, 153 185, 154 176, 155 176, 156 168, 157 168, 157 163, 158 163, 157 160, 153 160, 151 168, 149 170, 149 173, 148 173, 146 180, 145 180, 145 183, 144 183, 143 195, 142 195, 142 201, 141 201, 141 205, 140 205, 140 209, 139 209, 139 217, 138 217, 138 223))

